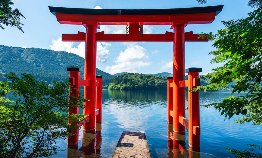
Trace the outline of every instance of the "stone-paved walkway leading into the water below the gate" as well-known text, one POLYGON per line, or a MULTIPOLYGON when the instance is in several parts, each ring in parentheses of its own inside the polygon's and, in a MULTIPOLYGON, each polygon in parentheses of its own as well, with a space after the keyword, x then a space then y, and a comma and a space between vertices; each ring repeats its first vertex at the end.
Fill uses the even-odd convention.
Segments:
POLYGON ((145 132, 123 131, 111 158, 150 158, 145 132))

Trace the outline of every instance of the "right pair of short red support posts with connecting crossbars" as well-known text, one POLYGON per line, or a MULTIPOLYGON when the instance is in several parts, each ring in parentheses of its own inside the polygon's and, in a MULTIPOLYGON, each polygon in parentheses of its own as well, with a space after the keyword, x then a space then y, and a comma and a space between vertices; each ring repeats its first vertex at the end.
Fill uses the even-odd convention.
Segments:
MULTIPOLYGON (((173 126, 183 126, 184 128, 188 129, 189 150, 192 151, 200 151, 199 91, 190 91, 190 89, 200 85, 199 72, 202 72, 202 68, 188 68, 186 69, 186 73, 188 73, 188 80, 178 82, 178 87, 188 87, 189 90, 188 119, 186 119, 185 116, 182 116, 181 110, 177 106, 174 106, 173 109, 170 108, 170 106, 172 106, 172 104, 170 103, 171 99, 177 99, 172 98, 170 89, 176 86, 175 83, 172 82, 173 77, 167 78, 167 121, 170 122, 173 117, 173 126), (175 118, 176 116, 178 117, 178 120, 175 118), (178 121, 179 125, 177 125, 176 121, 178 121)), ((176 101, 173 101, 173 103, 176 103, 176 101)), ((173 127, 173 134, 177 133, 179 133, 179 130, 176 130, 176 128, 173 127)))

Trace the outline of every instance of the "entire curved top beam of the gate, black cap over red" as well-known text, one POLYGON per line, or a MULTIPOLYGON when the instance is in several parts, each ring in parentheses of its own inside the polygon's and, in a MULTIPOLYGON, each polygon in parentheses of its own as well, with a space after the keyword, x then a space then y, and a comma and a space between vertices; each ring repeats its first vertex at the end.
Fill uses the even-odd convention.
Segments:
POLYGON ((90 21, 98 25, 209 24, 222 11, 223 5, 177 9, 83 9, 50 7, 60 24, 83 25, 90 21))

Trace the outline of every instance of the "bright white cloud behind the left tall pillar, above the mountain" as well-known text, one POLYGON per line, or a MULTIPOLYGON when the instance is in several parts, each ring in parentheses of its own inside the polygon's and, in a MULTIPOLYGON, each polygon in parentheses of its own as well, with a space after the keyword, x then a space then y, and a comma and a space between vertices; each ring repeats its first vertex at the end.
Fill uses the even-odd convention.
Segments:
MULTIPOLYGON (((111 44, 97 42, 96 45, 96 60, 98 62, 106 62, 109 54, 108 47, 111 46, 111 44)), ((58 38, 51 42, 50 48, 54 51, 66 51, 85 58, 85 42, 80 42, 77 47, 73 47, 73 42, 63 42, 61 38, 58 38)))

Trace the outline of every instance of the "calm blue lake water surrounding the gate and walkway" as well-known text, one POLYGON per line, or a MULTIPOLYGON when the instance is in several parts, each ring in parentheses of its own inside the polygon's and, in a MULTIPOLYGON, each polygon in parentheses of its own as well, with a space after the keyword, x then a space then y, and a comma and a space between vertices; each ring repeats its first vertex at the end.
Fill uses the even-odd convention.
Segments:
MULTIPOLYGON (((229 91, 200 92, 200 105, 220 102, 230 95, 229 91)), ((234 115, 228 120, 214 108, 200 107, 200 153, 194 153, 193 157, 233 157, 225 147, 250 150, 246 144, 262 145, 262 126, 233 122, 239 118, 234 115)), ((103 90, 102 123, 97 127, 101 131, 84 135, 79 131, 78 150, 67 149, 67 140, 58 140, 64 151, 52 157, 111 157, 123 131, 145 131, 152 158, 173 157, 174 153, 177 157, 189 157, 190 154, 186 149, 168 150, 167 91, 103 90)), ((186 141, 179 143, 186 143, 188 148, 188 133, 181 139, 186 141)))

